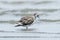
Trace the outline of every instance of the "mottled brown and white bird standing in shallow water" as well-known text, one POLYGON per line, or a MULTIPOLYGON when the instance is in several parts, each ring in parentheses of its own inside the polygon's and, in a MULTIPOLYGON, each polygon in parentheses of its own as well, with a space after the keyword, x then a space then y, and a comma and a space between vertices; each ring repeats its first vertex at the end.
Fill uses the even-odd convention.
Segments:
POLYGON ((31 25, 37 17, 39 17, 39 15, 37 13, 34 13, 33 16, 22 17, 21 20, 18 21, 18 23, 15 27, 23 26, 23 27, 26 27, 26 30, 28 30, 27 25, 31 25))

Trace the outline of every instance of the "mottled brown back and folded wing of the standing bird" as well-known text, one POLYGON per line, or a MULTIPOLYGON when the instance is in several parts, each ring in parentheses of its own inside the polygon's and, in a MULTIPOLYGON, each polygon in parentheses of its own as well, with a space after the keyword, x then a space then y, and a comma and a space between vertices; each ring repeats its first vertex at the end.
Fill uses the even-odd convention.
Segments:
POLYGON ((34 18, 32 16, 22 17, 19 22, 22 23, 23 25, 30 25, 34 22, 34 18))

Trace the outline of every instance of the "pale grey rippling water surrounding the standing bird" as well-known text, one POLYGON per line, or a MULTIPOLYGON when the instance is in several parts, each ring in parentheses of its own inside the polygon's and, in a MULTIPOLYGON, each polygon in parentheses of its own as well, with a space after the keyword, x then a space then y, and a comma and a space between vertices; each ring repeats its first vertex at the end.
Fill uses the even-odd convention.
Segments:
POLYGON ((60 40, 60 0, 0 0, 1 40, 60 40), (40 15, 29 26, 15 28, 22 16, 40 15))

